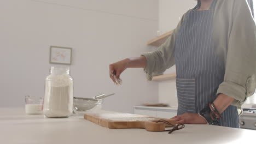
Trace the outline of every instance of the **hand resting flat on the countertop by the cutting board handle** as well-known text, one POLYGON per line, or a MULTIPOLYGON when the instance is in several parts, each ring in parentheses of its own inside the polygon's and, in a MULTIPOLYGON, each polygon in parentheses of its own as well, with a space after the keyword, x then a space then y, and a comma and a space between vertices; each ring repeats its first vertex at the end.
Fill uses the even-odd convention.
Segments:
POLYGON ((197 113, 184 113, 171 119, 174 119, 176 124, 207 124, 197 113))

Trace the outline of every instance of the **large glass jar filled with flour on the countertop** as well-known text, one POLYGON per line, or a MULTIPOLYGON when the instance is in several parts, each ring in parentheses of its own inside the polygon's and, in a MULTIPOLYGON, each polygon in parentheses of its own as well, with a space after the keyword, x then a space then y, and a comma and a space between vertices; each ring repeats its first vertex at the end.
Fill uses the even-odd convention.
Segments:
POLYGON ((43 107, 46 117, 69 117, 73 112, 73 79, 68 67, 51 67, 43 107))

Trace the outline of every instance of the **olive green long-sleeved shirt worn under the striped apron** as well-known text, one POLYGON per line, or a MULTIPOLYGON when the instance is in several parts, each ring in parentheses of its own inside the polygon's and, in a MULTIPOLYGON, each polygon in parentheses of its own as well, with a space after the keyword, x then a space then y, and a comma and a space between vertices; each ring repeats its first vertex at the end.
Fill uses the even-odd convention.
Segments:
MULTIPOLYGON (((189 11, 188 11, 189 12, 189 11)), ((147 59, 147 79, 160 75, 175 64, 175 40, 186 15, 158 50, 142 55, 147 59)), ((217 94, 235 98, 240 107, 256 88, 255 22, 246 0, 218 0, 214 12, 213 41, 218 56, 225 63, 224 81, 217 94)))

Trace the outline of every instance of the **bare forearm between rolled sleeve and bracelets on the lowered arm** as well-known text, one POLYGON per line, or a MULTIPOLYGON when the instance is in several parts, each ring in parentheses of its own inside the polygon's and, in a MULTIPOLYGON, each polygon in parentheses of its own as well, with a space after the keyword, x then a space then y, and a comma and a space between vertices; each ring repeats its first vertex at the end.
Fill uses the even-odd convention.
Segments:
POLYGON ((213 101, 213 104, 216 106, 216 109, 219 113, 222 113, 223 111, 228 108, 228 106, 234 101, 234 98, 229 97, 225 94, 219 94, 216 100, 213 101))

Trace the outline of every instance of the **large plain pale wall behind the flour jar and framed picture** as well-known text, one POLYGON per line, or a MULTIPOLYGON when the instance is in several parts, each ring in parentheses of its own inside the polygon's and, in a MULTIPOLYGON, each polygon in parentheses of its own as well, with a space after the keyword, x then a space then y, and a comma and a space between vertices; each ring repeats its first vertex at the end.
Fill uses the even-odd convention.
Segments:
POLYGON ((43 96, 50 45, 73 48, 74 95, 116 93, 103 109, 132 112, 158 100, 158 85, 142 69, 128 69, 122 86, 108 65, 149 51, 158 29, 155 0, 8 0, 0 2, 0 107, 24 106, 26 94, 43 96))

